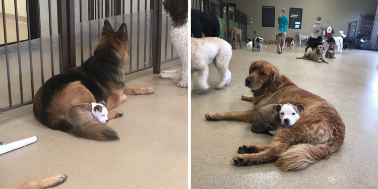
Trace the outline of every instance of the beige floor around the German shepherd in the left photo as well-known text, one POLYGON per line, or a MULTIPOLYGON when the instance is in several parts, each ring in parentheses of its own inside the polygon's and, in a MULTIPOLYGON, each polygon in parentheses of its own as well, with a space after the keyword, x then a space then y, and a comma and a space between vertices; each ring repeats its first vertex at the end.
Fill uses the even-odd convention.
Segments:
POLYGON ((124 115, 108 125, 117 142, 96 142, 47 129, 32 112, 0 122, 0 141, 38 142, 0 156, 0 187, 68 175, 56 188, 187 188, 187 89, 151 70, 128 75, 127 86, 155 94, 129 96, 124 115))

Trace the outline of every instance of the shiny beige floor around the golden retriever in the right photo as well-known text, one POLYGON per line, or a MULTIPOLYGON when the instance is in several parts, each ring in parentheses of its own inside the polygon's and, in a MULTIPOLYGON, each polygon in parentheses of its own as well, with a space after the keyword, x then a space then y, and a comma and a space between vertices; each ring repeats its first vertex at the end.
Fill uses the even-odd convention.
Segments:
MULTIPOLYGON (((264 44, 266 45, 266 44, 264 44)), ((238 46, 238 45, 236 45, 238 46)), ((261 52, 233 50, 229 70, 231 84, 214 90, 219 75, 210 68, 213 89, 192 93, 192 188, 378 188, 378 52, 343 50, 330 64, 295 59, 303 46, 276 52, 267 44, 261 52), (267 60, 299 87, 330 101, 346 125, 340 151, 301 171, 284 172, 274 163, 236 167, 232 157, 240 145, 269 144, 271 137, 251 133, 250 124, 207 121, 206 112, 243 111, 253 107, 242 101, 244 87, 254 60, 267 60)))

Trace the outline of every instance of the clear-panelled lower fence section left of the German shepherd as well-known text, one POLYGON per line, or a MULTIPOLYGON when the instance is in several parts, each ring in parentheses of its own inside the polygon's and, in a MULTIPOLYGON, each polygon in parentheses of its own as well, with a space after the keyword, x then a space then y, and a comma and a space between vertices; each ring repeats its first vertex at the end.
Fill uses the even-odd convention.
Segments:
POLYGON ((61 73, 59 49, 59 34, 0 47, 0 68, 9 68, 0 69, 0 113, 31 104, 43 82, 61 73))

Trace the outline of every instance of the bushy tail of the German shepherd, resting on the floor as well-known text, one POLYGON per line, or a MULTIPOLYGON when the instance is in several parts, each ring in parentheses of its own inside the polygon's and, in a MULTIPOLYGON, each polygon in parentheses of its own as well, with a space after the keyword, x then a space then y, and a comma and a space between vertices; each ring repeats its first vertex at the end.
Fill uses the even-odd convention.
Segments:
POLYGON ((58 123, 57 128, 65 128, 60 130, 62 132, 69 133, 75 137, 85 138, 95 141, 118 141, 119 137, 117 133, 105 124, 90 123, 75 127, 67 120, 61 120, 58 123))

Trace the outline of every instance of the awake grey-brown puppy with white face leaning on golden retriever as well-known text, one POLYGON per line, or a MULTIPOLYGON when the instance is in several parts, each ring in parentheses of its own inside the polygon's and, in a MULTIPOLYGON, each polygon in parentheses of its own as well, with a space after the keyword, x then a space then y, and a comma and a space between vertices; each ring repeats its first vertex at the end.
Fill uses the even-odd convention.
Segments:
POLYGON ((269 104, 260 108, 254 117, 250 130, 254 133, 274 136, 282 125, 291 127, 298 119, 299 112, 303 110, 302 104, 269 104))

